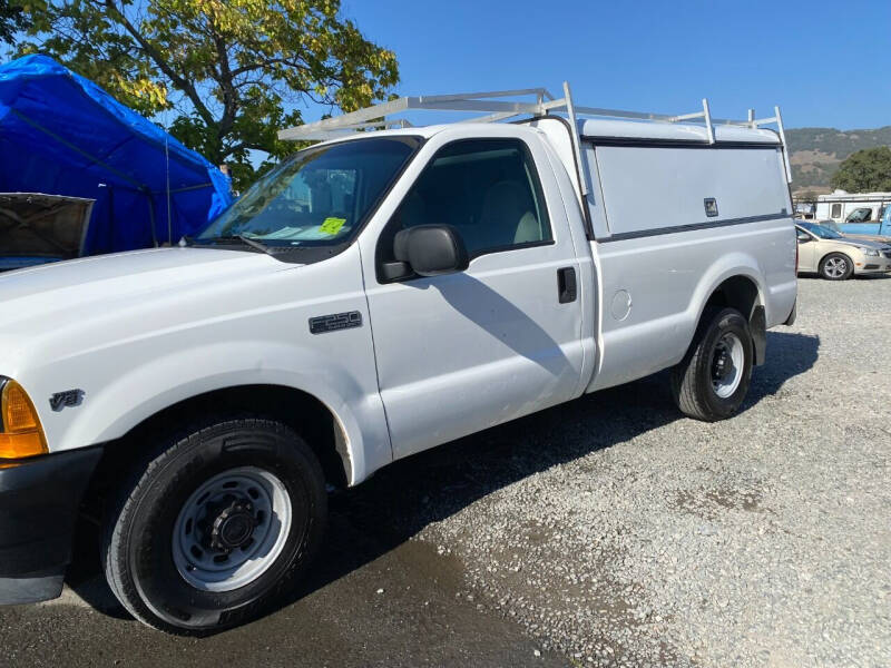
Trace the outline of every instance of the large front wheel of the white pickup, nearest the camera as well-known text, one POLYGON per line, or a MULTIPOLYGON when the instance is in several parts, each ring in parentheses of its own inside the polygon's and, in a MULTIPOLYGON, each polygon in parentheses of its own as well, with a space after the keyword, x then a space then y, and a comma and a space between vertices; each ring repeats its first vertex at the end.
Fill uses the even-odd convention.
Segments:
POLYGON ((298 582, 324 533, 322 468, 288 428, 229 420, 161 440, 106 518, 115 596, 173 632, 236 626, 298 582))

